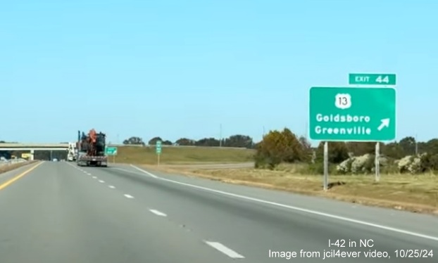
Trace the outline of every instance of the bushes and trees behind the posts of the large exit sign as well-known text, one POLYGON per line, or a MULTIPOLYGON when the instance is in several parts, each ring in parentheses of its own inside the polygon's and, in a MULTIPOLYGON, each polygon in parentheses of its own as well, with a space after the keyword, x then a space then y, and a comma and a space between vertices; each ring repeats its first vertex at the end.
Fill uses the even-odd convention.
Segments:
MULTIPOLYGON (((329 142, 328 161, 332 173, 368 173, 375 166, 375 142, 329 142)), ((312 148, 308 140, 290 129, 270 131, 256 143, 256 168, 274 169, 281 163, 308 164, 307 173, 323 172, 324 143, 312 148)), ((415 141, 412 136, 400 141, 380 143, 383 172, 438 171, 438 139, 415 141)))

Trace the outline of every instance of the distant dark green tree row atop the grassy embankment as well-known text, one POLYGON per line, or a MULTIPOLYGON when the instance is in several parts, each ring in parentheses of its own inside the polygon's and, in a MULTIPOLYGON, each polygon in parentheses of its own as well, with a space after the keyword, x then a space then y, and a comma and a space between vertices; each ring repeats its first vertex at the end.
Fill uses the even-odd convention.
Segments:
MULTIPOLYGON (((255 148, 256 143, 250 136, 236 134, 225 139, 204 138, 200 140, 181 138, 175 142, 162 139, 160 136, 156 136, 148 141, 148 145, 155 145, 157 141, 161 141, 163 145, 173 146, 223 146, 223 147, 239 147, 239 148, 255 148)), ((132 136, 129 139, 123 141, 125 145, 146 145, 143 139, 138 136, 132 136)))

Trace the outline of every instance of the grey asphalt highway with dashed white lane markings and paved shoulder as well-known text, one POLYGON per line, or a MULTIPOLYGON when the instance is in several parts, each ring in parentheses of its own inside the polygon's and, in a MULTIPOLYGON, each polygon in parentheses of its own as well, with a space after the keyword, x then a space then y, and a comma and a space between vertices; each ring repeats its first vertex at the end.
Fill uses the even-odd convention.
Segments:
POLYGON ((42 162, 0 174, 1 263, 437 262, 437 226, 423 214, 128 165, 42 162))

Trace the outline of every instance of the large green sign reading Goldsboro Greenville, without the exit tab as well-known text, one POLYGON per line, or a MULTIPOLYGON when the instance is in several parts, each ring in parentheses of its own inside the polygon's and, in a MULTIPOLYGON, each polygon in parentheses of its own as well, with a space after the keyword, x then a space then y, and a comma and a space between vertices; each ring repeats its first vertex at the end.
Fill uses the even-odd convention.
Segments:
POLYGON ((316 141, 392 141, 396 90, 311 87, 308 126, 316 141))

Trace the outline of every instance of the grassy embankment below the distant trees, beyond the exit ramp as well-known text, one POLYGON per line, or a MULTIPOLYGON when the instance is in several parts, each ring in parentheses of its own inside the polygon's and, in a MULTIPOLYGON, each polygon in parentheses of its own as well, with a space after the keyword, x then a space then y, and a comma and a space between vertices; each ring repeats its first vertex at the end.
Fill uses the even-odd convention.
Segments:
MULTIPOLYGON (((254 150, 236 148, 212 147, 163 147, 160 163, 177 165, 185 163, 217 163, 217 162, 249 162, 252 161, 254 150)), ((157 155, 154 147, 118 147, 115 162, 130 164, 156 164, 157 155)), ((109 162, 113 157, 109 156, 109 162)))

